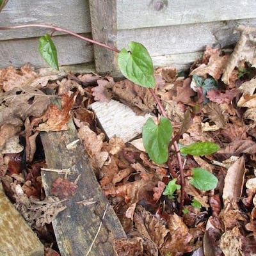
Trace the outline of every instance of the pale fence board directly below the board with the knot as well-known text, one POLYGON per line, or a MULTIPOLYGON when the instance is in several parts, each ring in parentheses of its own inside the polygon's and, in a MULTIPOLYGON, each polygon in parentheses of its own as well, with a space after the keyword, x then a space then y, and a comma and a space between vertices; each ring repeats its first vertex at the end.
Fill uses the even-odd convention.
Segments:
MULTIPOLYGON (((252 20, 252 23, 255 19, 252 20)), ((206 45, 225 47, 234 44, 239 33, 233 33, 243 22, 207 22, 182 26, 121 30, 117 33, 118 49, 131 41, 147 47, 151 56, 204 51, 206 45)), ((255 22, 256 23, 256 22, 255 22)))

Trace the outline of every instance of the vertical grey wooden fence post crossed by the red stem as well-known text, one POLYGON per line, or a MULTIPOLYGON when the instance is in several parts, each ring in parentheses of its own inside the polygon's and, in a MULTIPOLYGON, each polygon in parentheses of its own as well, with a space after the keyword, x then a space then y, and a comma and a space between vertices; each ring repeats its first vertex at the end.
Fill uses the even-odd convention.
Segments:
MULTIPOLYGON (((92 37, 116 47, 116 0, 89 0, 92 37)), ((116 52, 93 45, 97 72, 116 70, 116 52)))

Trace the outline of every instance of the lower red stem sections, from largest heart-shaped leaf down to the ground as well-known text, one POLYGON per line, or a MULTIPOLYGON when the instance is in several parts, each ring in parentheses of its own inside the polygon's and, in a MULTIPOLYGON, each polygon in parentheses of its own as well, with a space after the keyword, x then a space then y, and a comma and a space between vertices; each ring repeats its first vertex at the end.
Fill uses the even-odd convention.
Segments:
MULTIPOLYGON (((149 89, 150 93, 152 94, 152 96, 154 97, 154 100, 157 102, 157 106, 159 107, 161 113, 163 116, 168 117, 166 115, 166 112, 163 108, 163 105, 159 99, 159 97, 156 95, 155 91, 150 88, 149 89)), ((173 141, 173 140, 172 140, 173 141)), ((182 164, 182 159, 180 156, 180 152, 179 152, 179 147, 178 147, 178 143, 177 141, 173 141, 173 147, 178 159, 178 163, 179 163, 179 168, 180 168, 180 187, 181 187, 181 191, 180 191, 180 209, 179 209, 179 215, 182 213, 182 210, 184 208, 184 200, 185 200, 185 190, 184 190, 184 186, 185 186, 185 180, 184 180, 184 172, 183 172, 183 164, 182 164)), ((172 168, 170 168, 170 159, 168 159, 169 163, 168 164, 168 168, 171 172, 171 175, 173 176, 173 172, 172 172, 172 168)), ((172 166, 171 166, 172 167, 172 166)))

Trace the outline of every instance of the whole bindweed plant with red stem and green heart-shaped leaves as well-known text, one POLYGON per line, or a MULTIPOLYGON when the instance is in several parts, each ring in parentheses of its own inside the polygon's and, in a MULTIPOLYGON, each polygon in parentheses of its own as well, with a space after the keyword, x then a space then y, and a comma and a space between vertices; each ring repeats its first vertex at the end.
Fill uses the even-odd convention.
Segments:
MULTIPOLYGON (((173 136, 172 123, 170 122, 170 119, 168 118, 166 112, 164 111, 164 108, 161 104, 161 100, 154 91, 154 87, 156 86, 156 81, 154 77, 154 67, 152 59, 147 49, 138 42, 129 42, 128 49, 124 48, 121 51, 119 51, 115 47, 110 47, 109 45, 101 44, 90 38, 86 38, 84 36, 73 33, 72 31, 68 31, 67 29, 44 24, 6 26, 0 27, 0 29, 17 29, 28 27, 41 27, 53 29, 53 31, 62 31, 64 33, 68 33, 69 35, 76 36, 77 38, 86 40, 87 42, 91 42, 92 44, 97 44, 102 47, 105 47, 106 49, 117 52, 118 67, 120 68, 122 74, 133 83, 138 84, 139 86, 143 86, 144 88, 148 88, 148 90, 150 90, 150 93, 152 93, 152 96, 154 97, 154 100, 156 101, 157 106, 159 108, 159 112, 161 113, 162 116, 157 118, 156 121, 154 121, 152 118, 148 118, 147 122, 143 126, 142 131, 143 145, 150 159, 152 159, 152 161, 154 161, 157 164, 163 164, 170 161, 170 148, 173 145, 179 162, 179 178, 177 179, 178 175, 172 170, 171 164, 168 164, 173 179, 170 180, 170 182, 166 185, 163 195, 168 195, 170 198, 173 198, 173 193, 176 190, 180 189, 179 212, 181 213, 182 209, 184 208, 185 182, 182 157, 180 153, 183 155, 189 154, 192 156, 212 154, 218 150, 218 145, 206 141, 193 143, 191 145, 184 146, 179 149, 177 140, 175 139, 175 136, 173 136)), ((48 63, 48 65, 50 65, 52 68, 58 69, 58 52, 54 45, 54 42, 52 42, 51 35, 46 34, 40 37, 39 52, 42 58, 44 58, 44 60, 48 63)), ((211 79, 205 79, 205 81, 203 81, 200 77, 197 76, 194 76, 193 79, 195 81, 196 86, 200 86, 203 88, 204 93, 207 92, 209 88, 215 86, 211 79)), ((193 186, 195 186, 195 188, 204 191, 216 188, 218 179, 216 179, 216 177, 212 175, 212 173, 202 168, 194 168, 192 170, 192 173, 192 176, 188 177, 188 179, 189 182, 193 186)))

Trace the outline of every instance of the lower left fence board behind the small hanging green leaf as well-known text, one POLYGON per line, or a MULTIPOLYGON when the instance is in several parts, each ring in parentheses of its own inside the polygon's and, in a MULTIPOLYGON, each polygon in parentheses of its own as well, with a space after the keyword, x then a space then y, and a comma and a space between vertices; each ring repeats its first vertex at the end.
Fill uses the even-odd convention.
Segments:
MULTIPOLYGON (((86 34, 84 36, 90 36, 86 34)), ((93 61, 91 44, 73 36, 52 38, 58 51, 59 65, 73 65, 93 61)), ((30 62, 34 67, 49 67, 38 51, 38 38, 0 41, 0 68, 22 67, 30 62)))

